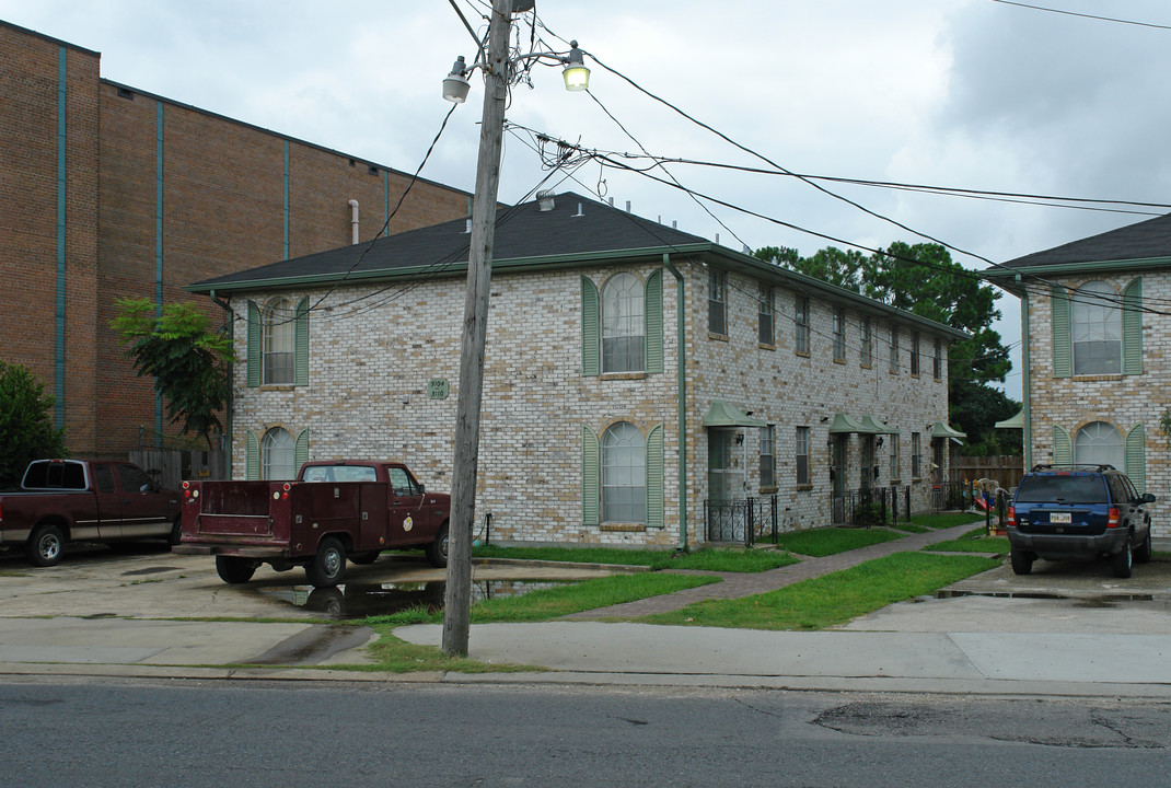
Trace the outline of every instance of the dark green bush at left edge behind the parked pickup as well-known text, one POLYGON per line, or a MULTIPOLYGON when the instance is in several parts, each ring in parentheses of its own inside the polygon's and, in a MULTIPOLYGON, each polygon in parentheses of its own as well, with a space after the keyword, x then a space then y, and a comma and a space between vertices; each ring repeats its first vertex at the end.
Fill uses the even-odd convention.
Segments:
POLYGON ((54 402, 26 368, 0 361, 0 488, 19 486, 33 460, 69 455, 49 419, 54 402))

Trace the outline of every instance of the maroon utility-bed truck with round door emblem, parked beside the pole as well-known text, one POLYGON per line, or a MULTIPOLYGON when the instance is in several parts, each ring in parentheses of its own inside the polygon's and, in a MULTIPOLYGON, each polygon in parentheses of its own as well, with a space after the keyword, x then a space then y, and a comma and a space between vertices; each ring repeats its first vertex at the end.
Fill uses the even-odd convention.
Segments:
POLYGON ((256 567, 304 567, 309 582, 342 582, 345 560, 423 547, 447 566, 451 496, 429 493, 402 462, 306 462, 296 481, 184 481, 183 535, 173 550, 214 555, 226 583, 256 567))

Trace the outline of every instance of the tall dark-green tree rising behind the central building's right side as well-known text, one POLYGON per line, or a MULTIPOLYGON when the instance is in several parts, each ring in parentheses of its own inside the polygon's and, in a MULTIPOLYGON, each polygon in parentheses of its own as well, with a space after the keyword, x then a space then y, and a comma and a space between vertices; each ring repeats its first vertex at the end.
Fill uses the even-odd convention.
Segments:
POLYGON ((967 433, 970 451, 1021 451, 993 427, 1020 407, 992 385, 1012 369, 1008 348, 992 329, 1000 293, 953 261, 946 247, 896 241, 870 255, 827 247, 810 258, 766 247, 756 256, 970 334, 947 354, 949 419, 967 433))

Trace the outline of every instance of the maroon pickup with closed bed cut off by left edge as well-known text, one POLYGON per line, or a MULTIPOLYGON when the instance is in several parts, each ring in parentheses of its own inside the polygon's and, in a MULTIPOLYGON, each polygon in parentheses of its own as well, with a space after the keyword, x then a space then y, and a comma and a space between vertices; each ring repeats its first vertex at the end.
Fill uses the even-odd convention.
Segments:
POLYGON ((60 563, 67 542, 158 536, 179 539, 179 493, 130 462, 35 460, 19 491, 0 493, 0 544, 37 567, 60 563))

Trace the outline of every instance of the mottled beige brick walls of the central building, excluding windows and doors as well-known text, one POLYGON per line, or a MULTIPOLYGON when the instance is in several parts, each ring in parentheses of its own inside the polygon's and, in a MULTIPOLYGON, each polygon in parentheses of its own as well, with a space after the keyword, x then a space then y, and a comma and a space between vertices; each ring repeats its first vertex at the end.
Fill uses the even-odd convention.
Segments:
MULTIPOLYGON (((707 493, 707 438, 704 416, 713 399, 726 399, 776 424, 779 494, 802 527, 829 522, 827 420, 837 411, 871 413, 903 430, 902 480, 910 482, 910 433, 946 417, 946 382, 926 375, 911 378, 908 355, 891 375, 876 338, 874 369, 858 364, 857 315, 849 313, 848 362, 830 361, 829 307, 814 302, 814 342, 809 358, 792 351, 792 324, 781 321, 775 350, 756 342, 756 304, 746 293, 755 283, 734 280, 730 287, 728 341, 707 333, 707 274, 700 266, 677 262, 687 276, 687 488, 689 537, 703 541, 703 502, 707 493), (795 425, 813 430, 812 486, 794 489, 795 425)), ((600 288, 622 270, 645 280, 658 266, 591 267, 570 272, 497 275, 485 361, 477 522, 493 515, 493 539, 672 547, 679 542, 679 440, 677 424, 676 282, 664 273, 664 374, 583 377, 581 374, 582 275, 600 288), (608 530, 582 525, 581 433, 601 434, 618 420, 645 434, 657 424, 665 437, 664 529, 608 530)), ((369 297, 344 287, 297 294, 310 303, 308 386, 244 386, 245 366, 235 370, 233 466, 242 475, 245 430, 258 437, 273 426, 296 434, 309 430, 309 455, 400 459, 424 484, 450 489, 456 392, 459 385, 459 333, 464 279, 395 286, 369 297), (446 378, 447 399, 430 399, 427 382, 446 378)), ((786 297, 783 294, 779 299, 786 297)), ((788 297, 792 297, 789 294, 788 297)), ((246 316, 246 299, 232 301, 246 316)), ((785 302, 779 300, 785 309, 785 302)), ((244 323, 237 350, 245 358, 244 323)), ((875 322, 876 337, 881 321, 875 322)), ((927 347, 927 345, 925 345, 927 347)), ((857 438, 851 438, 857 451, 857 438)), ((748 430, 745 448, 752 495, 760 494, 759 436, 748 430)), ((930 440, 924 436, 924 467, 930 440)), ((876 450, 890 480, 889 447, 876 450)), ((857 486, 857 459, 847 470, 857 486)), ((925 505, 930 485, 916 482, 916 506, 925 505)))

